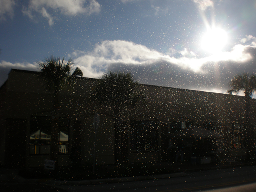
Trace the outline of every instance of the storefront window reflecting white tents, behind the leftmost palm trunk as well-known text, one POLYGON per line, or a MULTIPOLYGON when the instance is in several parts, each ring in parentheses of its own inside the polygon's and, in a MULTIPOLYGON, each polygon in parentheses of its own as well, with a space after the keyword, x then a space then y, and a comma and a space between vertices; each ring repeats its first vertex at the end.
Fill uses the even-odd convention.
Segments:
MULTIPOLYGON (((30 154, 50 154, 51 117, 32 116, 30 122, 30 154)), ((68 153, 69 119, 59 120, 59 153, 68 153)))

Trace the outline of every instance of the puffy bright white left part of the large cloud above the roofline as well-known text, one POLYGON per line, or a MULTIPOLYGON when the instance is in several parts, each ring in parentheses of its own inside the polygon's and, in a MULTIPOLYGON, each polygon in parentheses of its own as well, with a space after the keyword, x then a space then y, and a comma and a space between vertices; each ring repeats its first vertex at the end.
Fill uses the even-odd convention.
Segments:
POLYGON ((144 45, 121 40, 103 41, 96 45, 91 53, 75 51, 72 55, 78 56, 74 62, 87 77, 99 77, 110 64, 145 65, 165 57, 169 58, 144 45))

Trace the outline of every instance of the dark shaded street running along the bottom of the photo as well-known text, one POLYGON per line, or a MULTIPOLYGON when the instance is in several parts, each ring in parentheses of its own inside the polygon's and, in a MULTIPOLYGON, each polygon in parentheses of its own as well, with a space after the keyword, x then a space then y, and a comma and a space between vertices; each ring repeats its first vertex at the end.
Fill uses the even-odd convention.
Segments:
POLYGON ((184 177, 97 185, 0 183, 1 192, 255 192, 256 166, 186 173, 184 177))

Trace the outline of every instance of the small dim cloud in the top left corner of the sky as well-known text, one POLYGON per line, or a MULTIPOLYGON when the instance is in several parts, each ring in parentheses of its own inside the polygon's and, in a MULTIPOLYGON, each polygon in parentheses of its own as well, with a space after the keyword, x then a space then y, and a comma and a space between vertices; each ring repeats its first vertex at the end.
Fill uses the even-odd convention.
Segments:
POLYGON ((0 21, 6 20, 6 15, 8 15, 11 18, 13 17, 14 6, 15 6, 14 0, 0 0, 0 21))

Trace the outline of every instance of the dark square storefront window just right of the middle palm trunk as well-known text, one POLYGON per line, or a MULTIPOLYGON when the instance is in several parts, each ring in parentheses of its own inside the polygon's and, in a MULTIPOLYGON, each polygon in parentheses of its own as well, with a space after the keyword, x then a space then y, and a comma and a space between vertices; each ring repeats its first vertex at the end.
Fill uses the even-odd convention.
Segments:
POLYGON ((156 121, 131 120, 131 152, 156 152, 157 142, 156 121))

